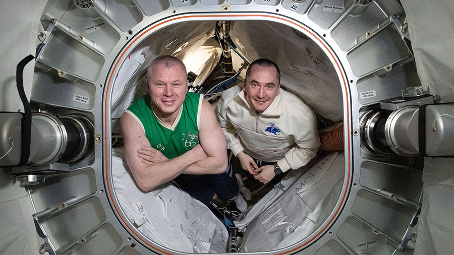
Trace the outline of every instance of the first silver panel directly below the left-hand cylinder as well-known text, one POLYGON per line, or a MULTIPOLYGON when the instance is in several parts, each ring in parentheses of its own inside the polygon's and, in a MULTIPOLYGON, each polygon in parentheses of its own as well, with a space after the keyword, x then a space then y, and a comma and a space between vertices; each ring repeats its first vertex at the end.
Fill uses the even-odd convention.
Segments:
POLYGON ((82 199, 96 192, 94 170, 87 168, 77 172, 47 177, 41 185, 29 186, 36 212, 47 208, 56 209, 60 203, 72 198, 82 199))

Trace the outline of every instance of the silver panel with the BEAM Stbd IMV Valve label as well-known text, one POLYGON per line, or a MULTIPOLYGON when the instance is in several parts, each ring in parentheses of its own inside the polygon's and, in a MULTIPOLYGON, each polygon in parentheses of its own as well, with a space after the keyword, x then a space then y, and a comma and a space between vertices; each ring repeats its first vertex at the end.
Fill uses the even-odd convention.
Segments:
POLYGON ((93 108, 96 93, 94 84, 83 80, 70 81, 56 73, 54 70, 35 72, 31 101, 82 110, 93 108), (53 91, 53 96, 49 96, 49 91, 53 91))

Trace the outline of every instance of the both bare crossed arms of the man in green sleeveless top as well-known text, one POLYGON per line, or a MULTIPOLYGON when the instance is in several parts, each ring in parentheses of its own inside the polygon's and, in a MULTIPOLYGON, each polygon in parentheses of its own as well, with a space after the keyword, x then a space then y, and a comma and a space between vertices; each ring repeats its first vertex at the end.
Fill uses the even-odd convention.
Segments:
POLYGON ((137 185, 145 192, 182 173, 217 174, 227 167, 225 138, 205 100, 200 117, 200 145, 174 159, 169 160, 151 148, 142 127, 129 113, 123 113, 121 123, 126 161, 137 185))

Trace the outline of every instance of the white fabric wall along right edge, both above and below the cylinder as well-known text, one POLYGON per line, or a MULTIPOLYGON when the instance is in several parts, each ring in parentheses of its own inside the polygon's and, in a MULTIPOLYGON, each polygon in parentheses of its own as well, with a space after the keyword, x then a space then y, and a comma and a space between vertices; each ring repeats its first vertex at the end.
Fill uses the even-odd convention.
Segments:
MULTIPOLYGON (((423 87, 454 102, 454 2, 401 0, 423 87)), ((415 255, 452 254, 454 243, 454 160, 425 158, 423 201, 415 255)))

